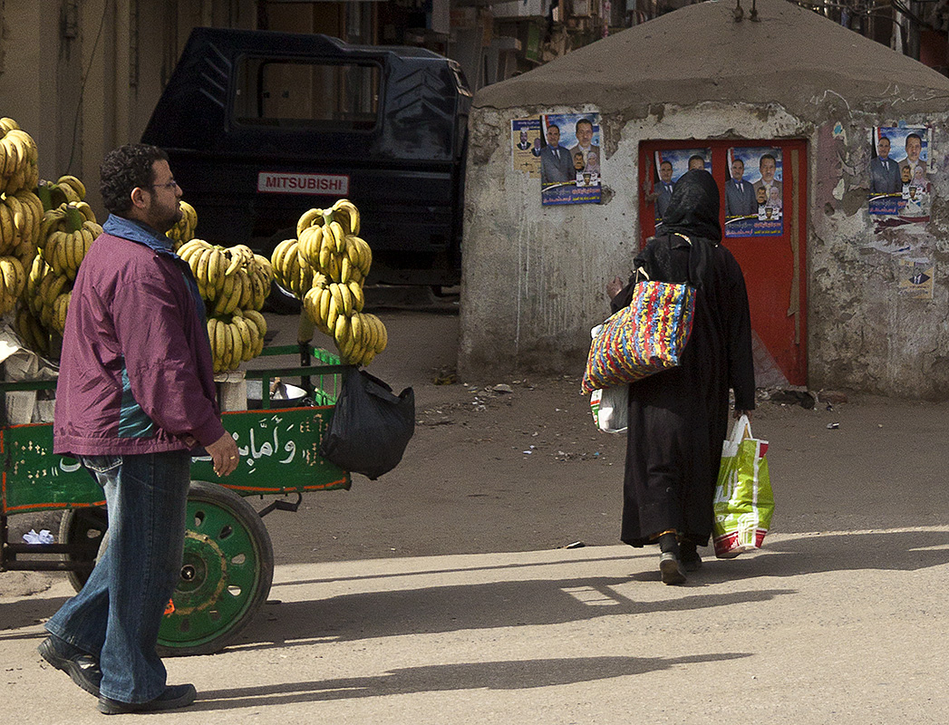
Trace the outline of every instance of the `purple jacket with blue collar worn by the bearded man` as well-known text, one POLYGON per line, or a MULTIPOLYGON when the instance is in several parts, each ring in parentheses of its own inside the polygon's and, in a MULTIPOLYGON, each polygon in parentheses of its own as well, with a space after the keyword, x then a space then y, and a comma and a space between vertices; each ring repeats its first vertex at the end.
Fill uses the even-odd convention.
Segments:
POLYGON ((109 217, 69 301, 54 453, 177 451, 224 435, 199 300, 166 237, 109 217))

